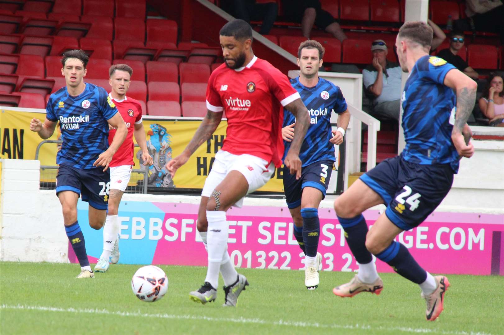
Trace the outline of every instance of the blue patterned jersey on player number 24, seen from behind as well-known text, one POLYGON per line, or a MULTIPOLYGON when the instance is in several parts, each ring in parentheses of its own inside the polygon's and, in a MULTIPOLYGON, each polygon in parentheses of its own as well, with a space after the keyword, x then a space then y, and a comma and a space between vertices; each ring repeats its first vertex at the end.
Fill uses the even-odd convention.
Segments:
POLYGON ((446 74, 454 68, 446 60, 429 55, 413 66, 401 97, 406 141, 401 154, 419 164, 450 163, 457 173, 459 157, 452 143, 457 97, 444 85, 446 74))

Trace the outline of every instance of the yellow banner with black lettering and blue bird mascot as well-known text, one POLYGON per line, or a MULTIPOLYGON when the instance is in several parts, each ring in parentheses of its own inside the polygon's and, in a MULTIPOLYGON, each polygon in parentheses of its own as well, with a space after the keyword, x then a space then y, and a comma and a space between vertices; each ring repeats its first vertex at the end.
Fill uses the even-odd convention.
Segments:
MULTIPOLYGON (((0 114, 0 158, 35 159, 37 145, 42 142, 38 134, 30 131, 32 118, 45 118, 44 113, 2 110, 0 114)), ((146 167, 140 164, 140 148, 134 152, 135 167, 148 172, 149 187, 175 187, 201 189, 212 168, 215 153, 222 147, 226 136, 227 122, 222 121, 206 143, 203 143, 187 163, 176 173, 174 180, 164 169, 166 162, 180 154, 193 138, 200 125, 199 120, 153 120, 144 119, 147 145, 154 158, 154 164, 146 167)), ((57 127, 56 129, 59 129, 57 127)), ((58 131, 49 138, 56 140, 58 131)), ((40 147, 38 159, 41 165, 56 165, 57 144, 45 143, 40 147)), ((283 192, 282 170, 277 169, 272 179, 259 191, 283 192)))

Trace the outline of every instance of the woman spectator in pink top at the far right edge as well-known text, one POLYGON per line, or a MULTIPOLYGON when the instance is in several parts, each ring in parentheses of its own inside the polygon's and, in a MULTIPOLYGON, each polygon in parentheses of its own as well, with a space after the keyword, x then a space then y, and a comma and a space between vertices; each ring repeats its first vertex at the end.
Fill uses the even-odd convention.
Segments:
POLYGON ((490 120, 490 126, 504 127, 504 91, 502 74, 490 73, 483 97, 479 99, 479 108, 490 120))

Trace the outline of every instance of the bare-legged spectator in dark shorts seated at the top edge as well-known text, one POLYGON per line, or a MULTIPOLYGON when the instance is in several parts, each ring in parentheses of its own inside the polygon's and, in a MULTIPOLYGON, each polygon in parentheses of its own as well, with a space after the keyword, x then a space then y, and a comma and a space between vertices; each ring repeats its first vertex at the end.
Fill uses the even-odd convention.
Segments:
POLYGON ((333 16, 322 9, 319 0, 282 0, 287 20, 301 23, 304 37, 310 39, 313 24, 343 42, 347 37, 333 16))

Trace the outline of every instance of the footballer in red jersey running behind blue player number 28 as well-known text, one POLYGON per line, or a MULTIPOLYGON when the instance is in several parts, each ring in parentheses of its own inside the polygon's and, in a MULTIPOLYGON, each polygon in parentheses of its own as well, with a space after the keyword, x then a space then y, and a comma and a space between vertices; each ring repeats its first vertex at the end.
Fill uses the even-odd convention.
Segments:
MULTIPOLYGON (((95 272, 106 272, 110 266, 109 260, 113 264, 119 261, 118 234, 120 222, 117 213, 122 194, 130 182, 131 170, 134 165, 133 150, 135 144, 133 143, 133 135, 135 135, 135 139, 142 150, 144 164, 152 164, 152 157, 147 149, 147 140, 142 123, 142 106, 137 100, 126 96, 130 88, 133 69, 126 64, 114 64, 110 66, 108 73, 110 75, 108 81, 111 86, 111 92, 108 96, 124 119, 128 135, 117 149, 109 165, 110 184, 104 186, 106 190, 103 190, 109 194, 107 218, 103 227, 103 252, 98 263, 96 263, 95 272)), ((112 142, 114 135, 115 129, 112 128, 108 135, 109 142, 112 142)))

